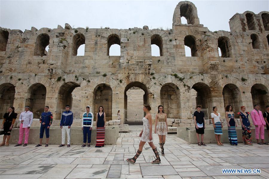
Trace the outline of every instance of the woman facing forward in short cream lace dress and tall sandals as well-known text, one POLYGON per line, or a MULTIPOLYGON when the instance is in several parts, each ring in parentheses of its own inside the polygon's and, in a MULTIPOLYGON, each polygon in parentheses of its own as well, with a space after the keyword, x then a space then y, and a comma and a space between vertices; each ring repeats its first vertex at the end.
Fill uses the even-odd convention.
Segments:
POLYGON ((155 134, 159 135, 159 145, 161 147, 162 156, 164 156, 164 148, 163 145, 165 143, 166 134, 168 131, 167 127, 167 115, 163 111, 163 106, 158 106, 158 113, 155 118, 155 134))

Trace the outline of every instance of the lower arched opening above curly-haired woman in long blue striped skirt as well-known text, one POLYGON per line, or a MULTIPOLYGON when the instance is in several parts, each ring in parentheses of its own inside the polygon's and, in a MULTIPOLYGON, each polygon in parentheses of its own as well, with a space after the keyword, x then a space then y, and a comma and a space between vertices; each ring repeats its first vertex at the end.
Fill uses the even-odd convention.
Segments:
POLYGON ((237 112, 241 110, 242 98, 239 88, 234 84, 226 84, 222 90, 224 107, 231 105, 236 118, 239 116, 237 112))

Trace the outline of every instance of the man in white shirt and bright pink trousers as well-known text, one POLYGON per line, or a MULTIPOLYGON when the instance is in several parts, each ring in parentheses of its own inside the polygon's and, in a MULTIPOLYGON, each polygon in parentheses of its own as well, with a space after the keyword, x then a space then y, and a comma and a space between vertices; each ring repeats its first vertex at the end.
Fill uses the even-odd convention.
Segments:
POLYGON ((25 111, 22 112, 20 114, 20 135, 19 135, 19 141, 18 143, 15 145, 16 146, 21 146, 22 145, 22 139, 23 139, 23 134, 25 133, 24 136, 24 147, 27 146, 28 143, 28 137, 29 137, 29 131, 30 131, 30 127, 33 123, 33 112, 29 111, 30 107, 29 106, 25 106, 25 111))

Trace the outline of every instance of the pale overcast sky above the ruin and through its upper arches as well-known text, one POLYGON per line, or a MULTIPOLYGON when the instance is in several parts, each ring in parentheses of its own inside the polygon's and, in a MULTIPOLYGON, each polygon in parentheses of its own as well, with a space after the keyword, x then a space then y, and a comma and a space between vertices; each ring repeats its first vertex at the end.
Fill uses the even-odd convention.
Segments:
MULTIPOLYGON (((101 26, 128 29, 172 28, 172 18, 180 1, 0 1, 0 26, 9 29, 30 30, 31 27, 100 28, 101 26)), ((191 1, 197 7, 200 24, 209 30, 230 31, 229 19, 236 13, 269 11, 269 1, 191 1)), ((182 23, 187 23, 183 21, 182 23)), ((119 46, 113 45, 110 55, 119 55, 119 46), (115 46, 115 47, 114 47, 115 46), (112 52, 113 51, 113 52, 112 52)), ((80 49, 83 47, 80 47, 80 49)), ((82 50, 78 55, 83 55, 82 50)), ((152 49, 152 55, 158 53, 152 49)), ((186 51, 187 56, 190 52, 186 51)))

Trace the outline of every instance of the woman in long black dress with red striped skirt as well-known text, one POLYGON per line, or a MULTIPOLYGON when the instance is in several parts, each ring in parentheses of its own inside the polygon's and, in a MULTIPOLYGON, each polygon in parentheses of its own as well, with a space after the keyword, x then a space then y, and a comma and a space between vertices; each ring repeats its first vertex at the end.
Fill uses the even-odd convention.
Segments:
POLYGON ((96 145, 95 147, 103 147, 105 145, 105 128, 106 128, 106 113, 103 106, 99 107, 99 112, 96 114, 96 145))

